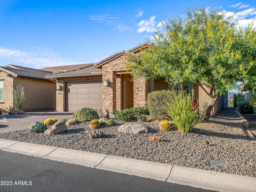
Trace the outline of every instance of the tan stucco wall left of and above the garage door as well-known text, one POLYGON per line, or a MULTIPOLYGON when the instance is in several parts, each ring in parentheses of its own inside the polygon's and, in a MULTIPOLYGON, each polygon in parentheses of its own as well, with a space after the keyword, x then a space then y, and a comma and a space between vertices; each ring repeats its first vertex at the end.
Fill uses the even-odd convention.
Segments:
POLYGON ((55 95, 56 95, 56 111, 65 111, 65 82, 81 82, 81 81, 92 81, 94 79, 102 79, 102 76, 82 76, 82 77, 67 77, 58 78, 55 84, 55 95), (56 90, 56 86, 60 85, 61 89, 56 90))

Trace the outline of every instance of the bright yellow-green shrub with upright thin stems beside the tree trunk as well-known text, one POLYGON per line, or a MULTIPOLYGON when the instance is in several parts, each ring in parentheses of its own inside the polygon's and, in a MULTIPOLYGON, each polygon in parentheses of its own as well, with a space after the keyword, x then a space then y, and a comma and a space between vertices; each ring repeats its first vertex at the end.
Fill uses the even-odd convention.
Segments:
POLYGON ((198 116, 198 108, 193 108, 194 92, 190 94, 184 90, 177 90, 173 93, 170 99, 166 100, 165 111, 179 131, 191 132, 194 126, 204 120, 204 116, 198 116))

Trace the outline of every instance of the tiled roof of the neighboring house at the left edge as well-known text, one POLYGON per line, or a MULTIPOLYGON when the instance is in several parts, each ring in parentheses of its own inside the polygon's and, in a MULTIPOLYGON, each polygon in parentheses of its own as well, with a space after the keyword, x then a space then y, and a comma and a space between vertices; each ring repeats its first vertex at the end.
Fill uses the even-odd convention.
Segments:
POLYGON ((52 73, 51 71, 33 69, 16 65, 6 65, 4 67, 0 67, 0 71, 6 72, 7 74, 12 75, 14 77, 25 77, 43 80, 45 80, 45 75, 52 73))

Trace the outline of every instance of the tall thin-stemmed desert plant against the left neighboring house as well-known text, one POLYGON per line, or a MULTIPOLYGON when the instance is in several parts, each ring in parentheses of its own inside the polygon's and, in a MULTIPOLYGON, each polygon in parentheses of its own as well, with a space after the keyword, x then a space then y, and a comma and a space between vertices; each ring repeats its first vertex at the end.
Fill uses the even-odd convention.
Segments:
POLYGON ((12 86, 13 104, 16 110, 23 110, 26 93, 24 87, 20 84, 14 87, 12 86))

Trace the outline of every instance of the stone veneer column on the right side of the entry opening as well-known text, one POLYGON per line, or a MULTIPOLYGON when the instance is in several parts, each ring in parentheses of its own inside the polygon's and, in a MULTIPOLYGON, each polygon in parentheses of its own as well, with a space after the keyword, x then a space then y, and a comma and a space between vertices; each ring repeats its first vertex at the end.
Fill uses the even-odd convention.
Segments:
POLYGON ((134 77, 133 81, 133 106, 146 106, 148 97, 148 80, 144 77, 134 77))

